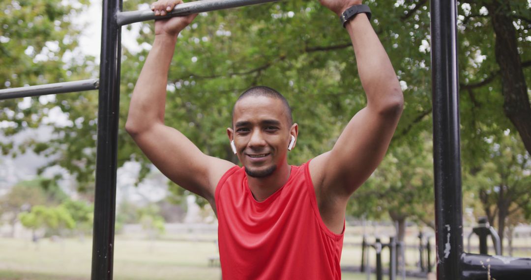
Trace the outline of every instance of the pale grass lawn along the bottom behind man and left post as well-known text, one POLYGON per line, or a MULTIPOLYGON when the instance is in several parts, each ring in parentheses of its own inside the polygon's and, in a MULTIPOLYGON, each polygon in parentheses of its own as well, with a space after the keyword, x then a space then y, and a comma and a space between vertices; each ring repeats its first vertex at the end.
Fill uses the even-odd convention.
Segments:
MULTIPOLYGON (((116 280, 220 279, 219 267, 208 264, 210 256, 217 256, 213 242, 128 240, 117 236, 114 246, 116 280)), ((43 239, 35 244, 0 238, 0 248, 2 280, 90 279, 91 239, 43 239)), ((348 262, 355 260, 350 255, 359 255, 345 249, 343 259, 348 262)), ((365 280, 366 275, 344 273, 342 279, 365 280)))

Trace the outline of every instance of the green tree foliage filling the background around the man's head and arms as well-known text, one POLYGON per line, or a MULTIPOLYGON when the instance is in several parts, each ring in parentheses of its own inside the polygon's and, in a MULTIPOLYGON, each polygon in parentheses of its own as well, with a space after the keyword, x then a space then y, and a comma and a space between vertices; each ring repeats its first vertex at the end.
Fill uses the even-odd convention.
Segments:
MULTIPOLYGON (((82 75, 92 75, 95 67, 91 58, 64 61, 67 49, 75 46, 79 33, 72 25, 72 17, 78 10, 65 4, 70 2, 32 1, 31 5, 16 2, 21 8, 13 4, 15 2, 0 2, 4 11, 10 11, 1 19, 0 59, 3 60, 0 63, 13 65, 0 71, 0 78, 5 81, 0 86, 75 80, 82 75), (19 20, 25 22, 26 19, 33 24, 19 24, 19 20), (21 29, 14 32, 12 30, 18 28, 16 24, 21 29), (65 42, 60 39, 63 36, 70 36, 72 40, 65 42), (57 42, 57 51, 47 47, 49 41, 57 42), (21 46, 32 46, 33 52, 21 46), (46 48, 52 54, 41 62, 36 56, 46 48)), ((80 3, 84 5, 86 1, 80 3)), ((124 10, 147 8, 142 3, 140 0, 126 1, 124 10)), ((423 184, 430 180, 431 167, 426 161, 429 159, 424 152, 426 147, 419 143, 426 141, 425 135, 431 133, 432 126, 428 1, 369 0, 365 3, 371 7, 373 27, 404 89, 405 110, 386 162, 375 178, 359 190, 356 200, 374 202, 361 198, 362 191, 366 188, 370 196, 380 185, 408 193, 407 186, 413 184, 411 191, 421 188, 421 197, 425 197, 427 190, 424 193, 424 188, 427 187, 423 184), (408 164, 404 164, 407 162, 418 164, 418 168, 409 170, 408 164), (384 174, 384 170, 389 174, 384 174), (425 177, 419 182, 420 174, 425 177), (376 180, 380 181, 376 183, 376 180)), ((486 151, 490 145, 485 138, 500 136, 506 129, 518 131, 521 139, 527 137, 525 128, 515 126, 507 113, 510 95, 507 85, 513 80, 508 81, 503 75, 506 66, 500 65, 499 57, 507 53, 496 51, 496 36, 500 34, 495 31, 498 29, 492 20, 500 11, 505 11, 504 16, 513 24, 514 32, 506 33, 513 34, 510 36, 516 44, 515 49, 508 51, 513 55, 517 52, 521 62, 515 65, 515 71, 524 73, 523 80, 515 81, 529 84, 529 51, 524 51, 530 47, 529 4, 516 0, 485 0, 463 1, 458 5, 462 151, 463 162, 470 167, 467 169, 470 172, 481 169, 481 163, 489 158, 486 151), (493 5, 500 8, 493 9, 493 5)), ((138 26, 141 50, 123 49, 118 165, 126 161, 140 162, 142 179, 150 170, 150 162, 123 129, 131 92, 153 41, 152 22, 138 26)), ((259 84, 279 90, 291 102, 294 120, 300 127, 297 147, 289 155, 292 164, 303 163, 328 151, 342 128, 366 102, 348 34, 337 16, 318 1, 290 0, 199 15, 179 35, 169 71, 166 124, 181 130, 205 153, 235 162, 225 132, 231 125, 232 106, 239 93, 259 84)), ((528 102, 528 91, 526 98, 528 102)), ((41 154, 58 154, 49 164, 65 167, 77 176, 82 189, 89 188, 93 183, 96 158, 96 94, 64 94, 52 100, 30 100, 29 107, 20 106, 21 100, 0 103, 4 108, 0 111, 0 121, 7 121, 0 123, 4 134, 11 135, 45 123, 45 116, 52 110, 65 113, 66 124, 53 124, 55 134, 50 141, 35 139, 18 149, 12 143, 3 143, 3 152, 16 154, 22 147, 31 147, 41 154)), ((520 121, 525 123, 528 118, 521 117, 520 121)), ((531 124, 531 120, 528 123, 531 124)), ((180 192, 175 191, 182 195, 180 192)), ((412 197, 400 195, 396 203, 407 205, 408 199, 412 197)), ((432 201, 427 196, 426 199, 432 201)), ((378 208, 367 209, 377 211, 378 208)))

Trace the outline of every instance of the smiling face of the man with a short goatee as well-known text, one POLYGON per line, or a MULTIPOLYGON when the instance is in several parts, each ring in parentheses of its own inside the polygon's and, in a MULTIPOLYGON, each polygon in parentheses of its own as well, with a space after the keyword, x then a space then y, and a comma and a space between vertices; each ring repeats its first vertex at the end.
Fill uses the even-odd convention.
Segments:
POLYGON ((234 107, 233 137, 238 159, 251 177, 270 176, 278 165, 286 162, 290 131, 286 107, 280 99, 250 96, 234 107))

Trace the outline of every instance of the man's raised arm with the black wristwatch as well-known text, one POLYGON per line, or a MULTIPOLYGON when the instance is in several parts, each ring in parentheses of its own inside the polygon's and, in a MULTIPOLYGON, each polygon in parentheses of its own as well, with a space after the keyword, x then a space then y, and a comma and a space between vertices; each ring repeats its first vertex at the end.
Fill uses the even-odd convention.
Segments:
MULTIPOLYGON (((321 0, 321 4, 339 16, 362 1, 321 0)), ((332 202, 328 211, 337 212, 339 207, 343 213, 350 195, 383 159, 404 102, 395 70, 366 14, 357 14, 347 22, 346 31, 354 47, 367 106, 349 121, 332 150, 310 163, 321 205, 332 202)), ((339 220, 342 226, 342 219, 339 220)))

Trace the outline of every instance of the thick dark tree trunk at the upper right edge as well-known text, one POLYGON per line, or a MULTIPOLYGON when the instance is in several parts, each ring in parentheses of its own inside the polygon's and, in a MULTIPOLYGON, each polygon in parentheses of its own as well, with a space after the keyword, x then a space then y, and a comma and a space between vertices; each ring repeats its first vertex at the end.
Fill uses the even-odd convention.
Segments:
POLYGON ((518 54, 515 27, 508 1, 485 1, 496 34, 495 55, 500 65, 503 111, 516 127, 526 150, 531 154, 531 105, 518 54))

